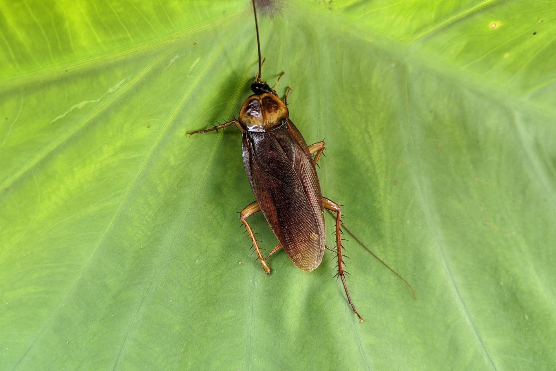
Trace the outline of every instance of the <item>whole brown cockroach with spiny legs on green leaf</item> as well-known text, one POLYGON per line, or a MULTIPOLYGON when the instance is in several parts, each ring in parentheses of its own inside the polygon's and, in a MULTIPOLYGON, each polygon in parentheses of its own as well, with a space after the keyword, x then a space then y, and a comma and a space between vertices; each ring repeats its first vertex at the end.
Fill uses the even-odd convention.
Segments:
MULTIPOLYGON (((245 171, 256 201, 241 210, 240 219, 251 237, 257 257, 266 274, 270 274, 270 267, 266 260, 280 249, 286 251, 297 268, 306 272, 317 268, 327 248, 324 210, 336 213, 336 250, 329 250, 337 254, 336 276, 339 276, 344 284, 351 309, 363 322, 363 318, 351 301, 346 285, 346 272, 342 261, 340 206, 322 197, 316 174, 315 165, 325 149, 325 142, 307 146, 303 136, 289 119, 286 102, 291 88, 288 88, 282 101, 273 90, 276 84, 270 87, 266 82, 261 81, 261 67, 264 61, 261 61, 255 0, 252 0, 252 3, 259 51, 259 72, 255 76, 255 82, 251 84, 254 94, 249 96, 241 106, 238 120, 228 121, 207 130, 193 131, 188 135, 216 131, 230 125, 235 125, 241 132, 245 171), (262 211, 279 241, 266 257, 262 256, 257 239, 247 222, 247 217, 259 211, 262 211)), ((382 260, 380 261, 386 265, 382 260)))

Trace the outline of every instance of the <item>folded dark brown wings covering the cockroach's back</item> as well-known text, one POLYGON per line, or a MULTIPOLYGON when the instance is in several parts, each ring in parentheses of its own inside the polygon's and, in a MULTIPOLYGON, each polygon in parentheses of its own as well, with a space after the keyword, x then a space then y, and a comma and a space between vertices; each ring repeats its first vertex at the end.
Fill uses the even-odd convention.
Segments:
POLYGON ((274 235, 304 271, 324 254, 324 208, 319 178, 305 140, 294 124, 243 133, 245 171, 274 235))

